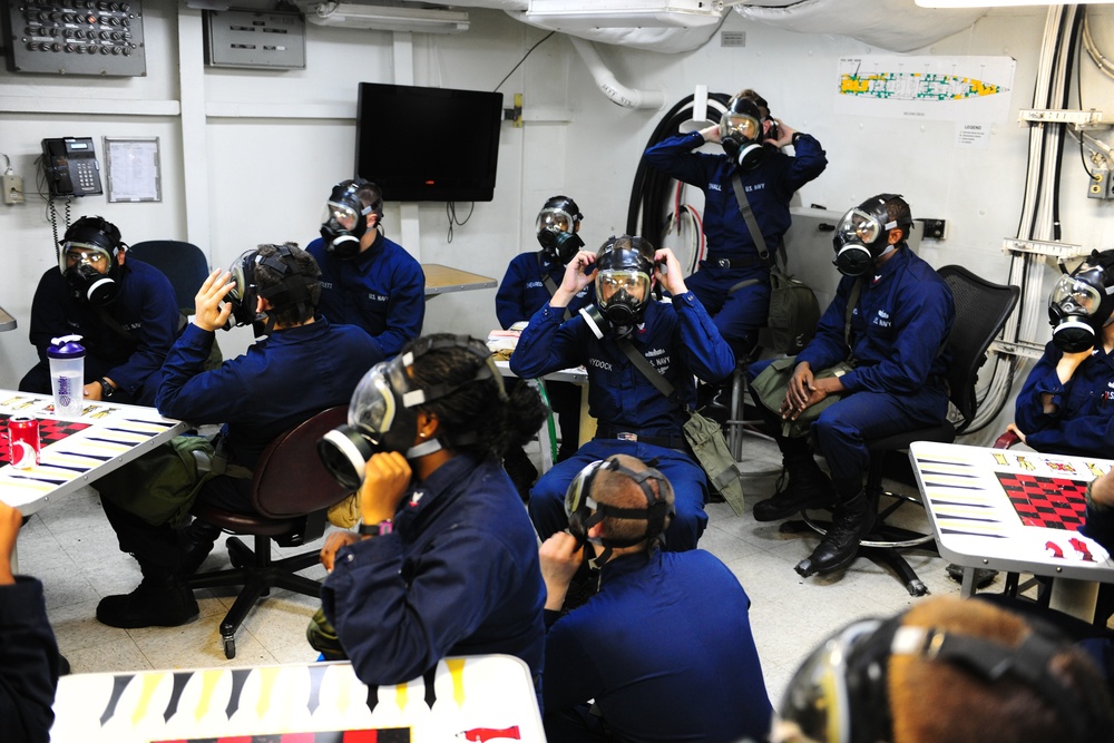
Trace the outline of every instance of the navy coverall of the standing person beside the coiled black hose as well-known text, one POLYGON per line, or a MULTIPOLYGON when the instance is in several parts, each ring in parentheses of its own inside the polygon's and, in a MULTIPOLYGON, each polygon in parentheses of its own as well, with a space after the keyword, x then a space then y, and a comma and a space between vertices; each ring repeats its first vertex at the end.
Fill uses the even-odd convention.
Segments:
POLYGON ((819 141, 808 134, 795 139, 795 157, 768 148, 766 159, 753 170, 740 169, 726 155, 692 151, 704 144, 700 131, 661 141, 643 155, 658 170, 704 192, 707 257, 685 284, 715 317, 715 326, 737 355, 750 351, 759 329, 765 326, 770 270, 759 260, 731 178, 739 174, 772 260, 792 222, 789 203, 793 194, 828 167, 819 141), (730 292, 735 284, 752 278, 756 283, 730 292))

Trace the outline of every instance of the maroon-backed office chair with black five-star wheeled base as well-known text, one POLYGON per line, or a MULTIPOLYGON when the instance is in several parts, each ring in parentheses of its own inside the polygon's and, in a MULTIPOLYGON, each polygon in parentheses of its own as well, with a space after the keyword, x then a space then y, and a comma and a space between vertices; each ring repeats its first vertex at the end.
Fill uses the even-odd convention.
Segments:
POLYGON ((349 493, 338 485, 317 457, 317 439, 348 420, 348 405, 324 410, 281 434, 263 451, 252 478, 252 506, 256 514, 226 511, 207 504, 193 508, 195 517, 233 534, 255 537, 253 551, 243 540, 227 540, 233 567, 189 578, 190 588, 243 586, 221 623, 224 654, 236 655, 236 629, 260 598, 274 587, 319 596, 321 584, 296 575, 317 564, 320 549, 281 560, 271 559, 271 540, 295 547, 320 538, 326 509, 349 493))

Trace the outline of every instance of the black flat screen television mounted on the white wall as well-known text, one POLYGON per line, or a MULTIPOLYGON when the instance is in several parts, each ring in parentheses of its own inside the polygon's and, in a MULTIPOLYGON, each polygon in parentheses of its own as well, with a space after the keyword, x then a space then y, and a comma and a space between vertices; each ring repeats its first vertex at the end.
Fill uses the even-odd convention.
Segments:
POLYGON ((361 82, 355 173, 388 202, 490 202, 502 94, 361 82))

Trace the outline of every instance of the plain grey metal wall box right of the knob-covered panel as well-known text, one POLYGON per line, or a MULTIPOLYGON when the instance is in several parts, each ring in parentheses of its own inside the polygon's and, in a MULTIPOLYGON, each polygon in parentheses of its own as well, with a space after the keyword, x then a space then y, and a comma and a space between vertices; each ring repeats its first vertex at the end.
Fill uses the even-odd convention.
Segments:
POLYGON ((305 69, 300 12, 206 10, 205 62, 211 67, 305 69))

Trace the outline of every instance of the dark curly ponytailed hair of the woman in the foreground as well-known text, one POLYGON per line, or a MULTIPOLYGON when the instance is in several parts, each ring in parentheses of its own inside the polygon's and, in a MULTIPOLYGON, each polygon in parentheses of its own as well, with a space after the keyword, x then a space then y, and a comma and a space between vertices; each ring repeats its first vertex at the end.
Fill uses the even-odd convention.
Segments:
POLYGON ((508 395, 491 353, 480 340, 434 333, 407 343, 402 353, 408 352, 414 353, 411 384, 423 390, 433 385, 455 388, 418 408, 437 417, 442 436, 455 451, 501 458, 529 441, 549 414, 531 384, 515 384, 508 395), (490 373, 485 366, 490 368, 490 373))

